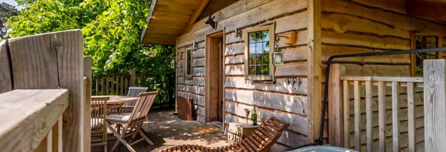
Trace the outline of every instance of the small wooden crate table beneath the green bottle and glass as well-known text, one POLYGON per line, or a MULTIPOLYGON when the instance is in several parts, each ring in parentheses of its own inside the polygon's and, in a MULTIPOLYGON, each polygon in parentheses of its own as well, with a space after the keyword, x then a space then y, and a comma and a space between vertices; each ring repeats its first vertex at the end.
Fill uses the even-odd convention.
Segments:
POLYGON ((242 123, 229 123, 228 141, 235 143, 241 141, 243 138, 251 135, 258 127, 242 123))

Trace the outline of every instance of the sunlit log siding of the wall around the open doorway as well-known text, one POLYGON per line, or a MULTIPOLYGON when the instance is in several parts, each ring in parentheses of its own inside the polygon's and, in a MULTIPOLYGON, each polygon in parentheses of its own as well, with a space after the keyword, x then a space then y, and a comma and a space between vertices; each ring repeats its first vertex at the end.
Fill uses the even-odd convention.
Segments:
MULTIPOLYGON (((231 122, 246 122, 244 108, 252 108, 252 103, 258 106, 258 119, 263 122, 273 116, 286 121, 291 126, 279 138, 274 150, 311 142, 307 139, 307 44, 308 44, 308 11, 307 0, 242 0, 243 11, 226 16, 221 10, 214 15, 218 21, 218 29, 225 28, 225 124, 231 122), (248 3, 249 2, 249 3, 248 3), (257 5, 249 5, 250 3, 257 5), (226 16, 225 18, 219 18, 226 16), (296 42, 293 45, 279 42, 279 48, 284 52, 283 66, 276 66, 275 83, 255 83, 244 79, 244 42, 243 37, 235 37, 235 28, 243 30, 268 21, 275 22, 275 34, 296 32, 296 42), (286 84, 286 79, 301 79, 301 85, 286 84)), ((228 8, 234 8, 229 6, 228 8)), ((240 7, 235 7, 240 8, 240 7)), ((235 12, 239 10, 234 10, 235 12)), ((197 49, 192 50, 192 78, 184 77, 184 60, 178 61, 177 93, 181 97, 194 99, 196 119, 204 123, 205 116, 205 34, 214 30, 204 22, 194 24, 188 32, 177 41, 177 51, 195 42, 197 49), (202 25, 201 25, 202 24, 202 25), (182 63, 180 63, 182 62, 182 63)))

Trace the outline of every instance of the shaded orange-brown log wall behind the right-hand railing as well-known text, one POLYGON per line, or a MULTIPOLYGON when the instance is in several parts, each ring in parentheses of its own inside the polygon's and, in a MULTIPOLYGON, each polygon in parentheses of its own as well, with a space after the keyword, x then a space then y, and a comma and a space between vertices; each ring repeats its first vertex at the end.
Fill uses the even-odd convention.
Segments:
MULTIPOLYGON (((446 34, 446 24, 444 23, 407 15, 404 1, 322 0, 321 6, 321 67, 323 80, 325 78, 325 63, 332 55, 410 50, 413 46, 413 33, 440 36, 446 34)), ((411 75, 411 56, 408 54, 366 58, 353 57, 337 59, 334 62, 343 63, 343 66, 345 66, 343 69, 344 75, 348 76, 410 77, 411 75)), ((323 85, 324 82, 322 82, 323 85)), ((361 95, 362 93, 364 92, 361 92, 361 95)), ((422 94, 418 93, 417 99, 420 98, 419 95, 422 94)), ((422 100, 416 103, 416 108, 423 108, 422 100)), ((402 112, 401 115, 407 114, 404 105, 402 105, 400 111, 402 112)), ((333 113, 333 111, 329 111, 329 113, 333 113)), ((353 115, 353 113, 351 114, 353 115)), ((417 135, 423 131, 422 114, 416 113, 417 135)), ((332 115, 329 114, 328 116, 332 115)), ((406 119, 401 118, 402 125, 407 124, 406 119)), ((391 122, 387 125, 391 125, 391 122)), ((400 131, 402 136, 407 137, 406 129, 400 131)), ((332 130, 330 130, 331 132, 332 130)), ((387 132, 391 133, 391 130, 387 132)), ((388 135, 387 138, 391 141, 392 136, 388 135)), ((365 138, 361 142, 365 143, 365 138)), ((417 146, 422 145, 423 138, 417 138, 417 142, 417 146)), ((340 144, 338 141, 330 141, 330 143, 340 144)), ((377 143, 374 142, 374 144, 377 143)), ((391 144, 389 145, 388 150, 391 149, 391 144)), ((401 143, 403 149, 406 146, 407 142, 401 143)), ((362 147, 362 150, 365 150, 365 146, 362 147)))

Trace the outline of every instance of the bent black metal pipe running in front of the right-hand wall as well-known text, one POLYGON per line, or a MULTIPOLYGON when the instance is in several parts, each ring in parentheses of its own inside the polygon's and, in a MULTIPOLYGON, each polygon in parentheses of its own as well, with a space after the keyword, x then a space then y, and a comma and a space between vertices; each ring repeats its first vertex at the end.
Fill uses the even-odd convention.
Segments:
MULTIPOLYGON (((396 55, 396 54, 411 54, 411 53, 427 53, 427 52, 446 52, 446 48, 432 48, 432 49, 418 49, 418 50, 406 50, 406 51, 386 51, 386 52, 373 52, 373 53, 357 53, 357 54, 345 54, 345 55, 334 55, 330 56, 327 60, 327 68, 325 70, 325 87, 324 87, 324 100, 323 100, 323 107, 322 107, 322 115, 321 115, 321 123, 320 123, 320 130, 319 130, 319 138, 316 139, 314 143, 302 145, 299 147, 294 147, 291 149, 298 149, 306 146, 311 145, 322 145, 323 144, 323 136, 324 136, 324 119, 325 119, 325 113, 328 106, 328 84, 329 84, 329 77, 330 77, 330 65, 331 61, 336 58, 347 58, 347 57, 366 57, 366 56, 380 56, 380 55, 396 55)), ((315 101, 313 101, 315 102, 315 101)), ((316 101, 317 102, 317 101, 316 101)), ((291 150, 290 149, 290 150, 291 150)))

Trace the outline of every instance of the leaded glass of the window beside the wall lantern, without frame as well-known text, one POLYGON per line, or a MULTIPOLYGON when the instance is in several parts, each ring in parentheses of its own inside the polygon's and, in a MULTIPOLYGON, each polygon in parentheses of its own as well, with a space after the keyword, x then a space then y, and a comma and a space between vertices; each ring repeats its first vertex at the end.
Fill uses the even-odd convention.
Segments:
POLYGON ((270 36, 269 30, 249 32, 249 74, 269 75, 270 36))

